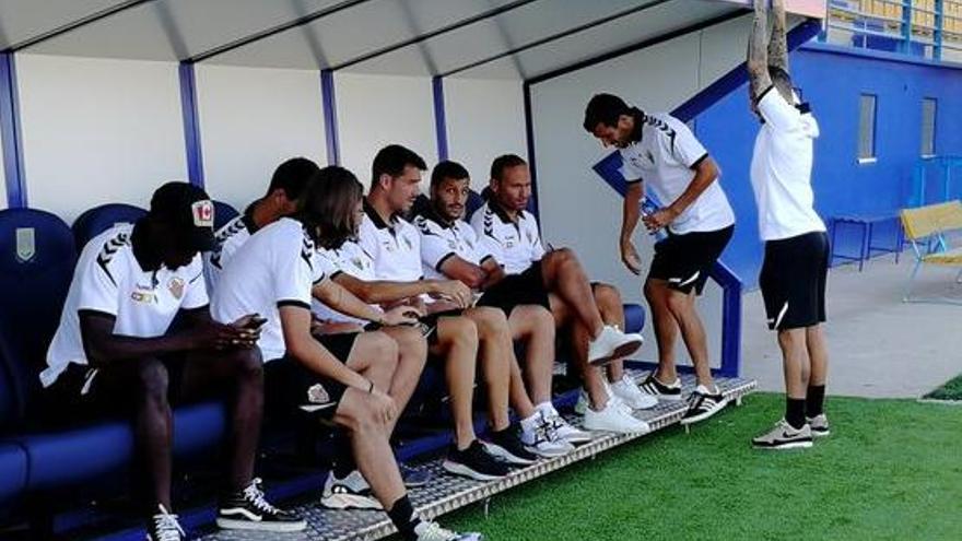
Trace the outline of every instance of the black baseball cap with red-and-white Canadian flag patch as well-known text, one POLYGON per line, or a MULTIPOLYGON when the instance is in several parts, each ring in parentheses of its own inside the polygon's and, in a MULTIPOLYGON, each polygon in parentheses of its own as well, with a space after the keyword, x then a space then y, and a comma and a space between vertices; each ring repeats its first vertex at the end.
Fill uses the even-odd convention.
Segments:
POLYGON ((150 215, 167 224, 178 243, 198 251, 216 247, 214 203, 203 189, 173 181, 157 188, 151 198, 150 215))

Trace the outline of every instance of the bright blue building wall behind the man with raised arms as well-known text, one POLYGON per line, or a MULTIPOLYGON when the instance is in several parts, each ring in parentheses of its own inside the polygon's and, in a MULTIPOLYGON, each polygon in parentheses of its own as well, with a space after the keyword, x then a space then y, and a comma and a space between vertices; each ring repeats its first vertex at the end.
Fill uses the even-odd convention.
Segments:
MULTIPOLYGON (((936 153, 962 154, 959 67, 810 44, 793 52, 791 71, 821 126, 813 185, 816 208, 826 221, 833 215, 880 213, 905 205, 922 148, 924 97, 938 99, 936 153), (858 108, 864 93, 878 96, 878 162, 859 165, 858 108)), ((754 287, 762 244, 749 166, 758 121, 749 111, 747 85, 699 116, 696 131, 722 166, 739 221, 723 259, 747 286, 754 287)), ((853 238, 842 235, 840 244, 853 238)))

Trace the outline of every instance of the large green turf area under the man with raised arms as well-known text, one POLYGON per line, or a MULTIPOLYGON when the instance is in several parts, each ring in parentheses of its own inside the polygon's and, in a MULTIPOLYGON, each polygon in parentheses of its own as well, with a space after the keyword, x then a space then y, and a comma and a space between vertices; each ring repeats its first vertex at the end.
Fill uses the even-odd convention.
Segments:
POLYGON ((962 409, 831 398, 828 439, 752 449, 782 408, 750 396, 443 522, 511 541, 962 539, 962 409))

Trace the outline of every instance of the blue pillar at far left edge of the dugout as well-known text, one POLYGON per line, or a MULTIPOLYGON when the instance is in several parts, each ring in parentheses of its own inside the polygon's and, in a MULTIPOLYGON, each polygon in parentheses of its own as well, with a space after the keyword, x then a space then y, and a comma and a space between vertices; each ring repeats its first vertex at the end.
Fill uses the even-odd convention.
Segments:
POLYGON ((0 52, 0 143, 7 175, 7 204, 26 207, 23 176, 23 148, 20 131, 20 101, 16 93, 16 64, 13 52, 0 52))

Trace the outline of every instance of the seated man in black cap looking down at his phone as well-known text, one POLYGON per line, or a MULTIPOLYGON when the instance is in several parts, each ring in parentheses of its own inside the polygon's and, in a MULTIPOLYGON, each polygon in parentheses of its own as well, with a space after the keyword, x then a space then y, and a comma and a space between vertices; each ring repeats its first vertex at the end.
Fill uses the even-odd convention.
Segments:
POLYGON ((127 415, 144 487, 148 541, 185 539, 171 506, 172 404, 226 400, 227 479, 222 528, 297 531, 254 479, 263 371, 253 311, 211 320, 200 251, 213 248, 213 203, 202 189, 167 183, 134 225, 97 235, 80 255, 60 326, 40 373, 58 417, 127 415), (179 311, 186 328, 168 332, 179 311))

